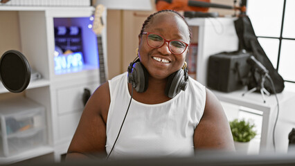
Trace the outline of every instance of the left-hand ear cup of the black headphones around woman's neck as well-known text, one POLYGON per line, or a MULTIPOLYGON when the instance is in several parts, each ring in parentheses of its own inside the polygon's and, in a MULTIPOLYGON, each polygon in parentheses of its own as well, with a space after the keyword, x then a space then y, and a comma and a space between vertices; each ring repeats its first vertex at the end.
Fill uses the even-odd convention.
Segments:
POLYGON ((143 93, 147 90, 148 74, 141 62, 134 63, 132 69, 128 71, 128 82, 132 84, 138 93, 143 93))

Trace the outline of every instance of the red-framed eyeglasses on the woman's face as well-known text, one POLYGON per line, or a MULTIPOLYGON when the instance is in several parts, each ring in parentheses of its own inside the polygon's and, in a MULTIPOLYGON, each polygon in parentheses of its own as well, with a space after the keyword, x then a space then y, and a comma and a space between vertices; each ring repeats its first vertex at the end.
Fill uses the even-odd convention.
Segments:
POLYGON ((175 55, 180 55, 184 53, 188 44, 181 42, 180 40, 167 40, 161 35, 156 33, 141 33, 142 35, 147 35, 147 44, 152 48, 160 48, 166 42, 168 42, 168 48, 171 53, 175 55))

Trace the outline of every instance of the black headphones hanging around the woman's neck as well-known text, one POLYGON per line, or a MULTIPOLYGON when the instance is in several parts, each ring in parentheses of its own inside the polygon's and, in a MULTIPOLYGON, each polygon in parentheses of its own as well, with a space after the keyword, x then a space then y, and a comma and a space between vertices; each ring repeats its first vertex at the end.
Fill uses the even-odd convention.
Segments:
MULTIPOLYGON (((132 87, 138 93, 146 91, 149 73, 138 57, 129 64, 127 71, 128 82, 132 84, 132 87)), ((181 90, 185 91, 186 86, 188 86, 188 69, 185 66, 169 75, 165 94, 169 98, 174 98, 181 90)))

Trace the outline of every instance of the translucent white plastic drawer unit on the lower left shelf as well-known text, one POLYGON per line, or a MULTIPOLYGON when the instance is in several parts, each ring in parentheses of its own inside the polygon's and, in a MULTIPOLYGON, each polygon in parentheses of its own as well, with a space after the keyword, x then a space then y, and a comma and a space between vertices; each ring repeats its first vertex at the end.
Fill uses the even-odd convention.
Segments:
POLYGON ((47 143, 45 108, 28 98, 0 100, 0 155, 13 156, 47 143))

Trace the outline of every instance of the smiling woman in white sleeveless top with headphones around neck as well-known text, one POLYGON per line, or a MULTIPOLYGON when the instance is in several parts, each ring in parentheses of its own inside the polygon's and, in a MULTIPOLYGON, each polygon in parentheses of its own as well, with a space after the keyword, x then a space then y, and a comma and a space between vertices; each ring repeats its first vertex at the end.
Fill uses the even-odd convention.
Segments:
POLYGON ((190 28, 174 10, 144 21, 128 71, 96 89, 66 158, 193 156, 234 151, 220 102, 188 76, 190 28))

